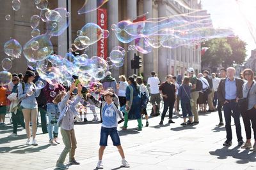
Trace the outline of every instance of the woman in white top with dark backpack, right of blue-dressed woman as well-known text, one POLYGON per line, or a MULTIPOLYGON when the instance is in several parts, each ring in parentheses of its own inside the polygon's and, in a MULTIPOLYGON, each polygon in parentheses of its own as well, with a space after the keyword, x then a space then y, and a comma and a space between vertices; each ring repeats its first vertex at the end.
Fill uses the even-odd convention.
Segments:
POLYGON ((147 87, 144 85, 142 78, 137 77, 136 82, 138 85, 140 85, 141 90, 141 115, 145 115, 146 119, 146 127, 148 127, 148 113, 147 113, 147 104, 148 104, 148 98, 149 98, 149 92, 147 87))

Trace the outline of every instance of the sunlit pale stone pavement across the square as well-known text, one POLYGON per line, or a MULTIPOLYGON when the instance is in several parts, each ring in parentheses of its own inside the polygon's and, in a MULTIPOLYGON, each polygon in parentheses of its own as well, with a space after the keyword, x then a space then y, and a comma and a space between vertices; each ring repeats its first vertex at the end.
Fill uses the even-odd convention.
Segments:
MULTIPOLYGON (((200 124, 180 127, 182 118, 173 117, 175 124, 159 126, 160 117, 150 118, 149 127, 136 130, 136 120, 128 123, 127 131, 119 131, 125 158, 130 168, 121 167, 121 158, 109 138, 103 157, 104 169, 256 169, 256 153, 237 146, 233 125, 233 145, 223 147, 225 127, 216 127, 218 113, 200 115, 200 124)), ((88 120, 92 115, 88 115, 88 120)), ((234 121, 233 121, 234 122, 234 121)), ((245 138, 244 127, 241 126, 245 138)), ((143 120, 145 124, 145 120, 143 120)), ((120 125, 121 126, 121 125, 120 125)), ((79 166, 69 169, 95 169, 98 160, 100 124, 87 122, 75 125, 79 166)), ((54 169, 64 148, 63 143, 49 146, 48 134, 38 128, 38 146, 26 146, 26 132, 19 127, 19 138, 7 138, 12 125, 0 130, 0 169, 54 169)), ((61 139, 61 135, 60 135, 61 139)), ((253 143, 253 141, 252 141, 253 143)), ((68 161, 68 158, 66 159, 68 161)))

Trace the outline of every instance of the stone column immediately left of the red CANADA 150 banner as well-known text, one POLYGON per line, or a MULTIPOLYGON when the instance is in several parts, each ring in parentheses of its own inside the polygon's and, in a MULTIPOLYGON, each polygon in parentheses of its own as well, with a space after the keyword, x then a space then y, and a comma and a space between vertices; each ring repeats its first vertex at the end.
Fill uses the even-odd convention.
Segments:
MULTIPOLYGON (((89 9, 97 8, 97 1, 88 1, 87 6, 89 9)), ((90 11, 89 13, 85 13, 85 22, 86 24, 89 22, 97 24, 97 10, 90 11)), ((92 30, 93 32, 93 30, 92 30)), ((89 32, 90 34, 90 32, 89 32)), ((90 45, 89 50, 86 52, 89 57, 97 56, 97 43, 90 45)))

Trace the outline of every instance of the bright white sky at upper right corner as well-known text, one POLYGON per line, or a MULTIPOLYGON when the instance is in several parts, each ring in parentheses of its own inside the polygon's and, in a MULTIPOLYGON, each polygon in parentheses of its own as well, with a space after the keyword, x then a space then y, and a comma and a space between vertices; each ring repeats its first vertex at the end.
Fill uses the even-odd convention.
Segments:
POLYGON ((256 48, 256 44, 250 34, 246 19, 256 25, 256 0, 240 0, 240 3, 236 0, 202 0, 201 3, 202 8, 211 14, 214 27, 231 28, 240 39, 248 44, 246 53, 250 57, 251 50, 256 48))

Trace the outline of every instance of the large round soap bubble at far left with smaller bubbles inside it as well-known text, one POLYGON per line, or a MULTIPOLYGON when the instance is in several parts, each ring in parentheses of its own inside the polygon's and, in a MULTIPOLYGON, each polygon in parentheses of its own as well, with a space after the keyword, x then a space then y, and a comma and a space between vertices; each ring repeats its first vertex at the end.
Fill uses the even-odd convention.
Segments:
POLYGON ((45 60, 53 52, 53 46, 47 34, 30 39, 23 48, 24 57, 29 62, 45 60), (37 41, 37 43, 35 43, 37 41), (36 49, 35 46, 37 45, 36 49))

